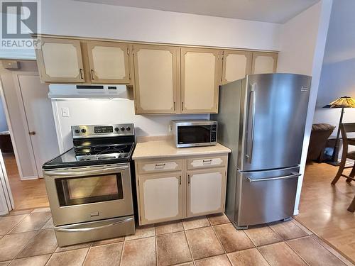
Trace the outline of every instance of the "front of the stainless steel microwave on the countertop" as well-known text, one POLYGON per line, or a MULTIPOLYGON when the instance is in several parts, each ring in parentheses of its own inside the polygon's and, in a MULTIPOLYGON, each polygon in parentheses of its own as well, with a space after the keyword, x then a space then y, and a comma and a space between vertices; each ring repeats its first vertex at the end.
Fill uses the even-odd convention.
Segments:
POLYGON ((210 145, 211 142, 216 141, 211 135, 212 125, 192 125, 192 126, 178 126, 177 127, 177 142, 176 147, 193 147, 210 145))

